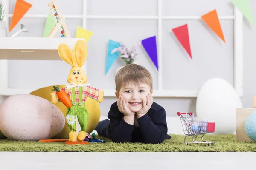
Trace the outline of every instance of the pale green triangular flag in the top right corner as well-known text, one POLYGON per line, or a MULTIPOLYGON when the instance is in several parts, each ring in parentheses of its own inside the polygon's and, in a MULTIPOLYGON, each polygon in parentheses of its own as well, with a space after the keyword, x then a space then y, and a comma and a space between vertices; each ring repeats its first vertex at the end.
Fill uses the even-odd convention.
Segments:
POLYGON ((231 2, 239 9, 239 11, 247 18, 247 20, 254 25, 253 14, 250 10, 250 4, 248 0, 231 0, 231 2))

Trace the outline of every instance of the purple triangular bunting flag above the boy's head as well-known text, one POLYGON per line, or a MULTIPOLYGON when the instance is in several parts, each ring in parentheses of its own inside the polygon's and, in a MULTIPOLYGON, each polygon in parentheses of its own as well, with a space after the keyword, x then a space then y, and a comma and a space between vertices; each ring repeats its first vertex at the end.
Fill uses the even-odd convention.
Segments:
POLYGON ((145 51, 147 51, 149 57, 151 58, 152 62, 154 63, 154 65, 158 70, 156 36, 149 37, 142 40, 141 44, 145 48, 145 51))

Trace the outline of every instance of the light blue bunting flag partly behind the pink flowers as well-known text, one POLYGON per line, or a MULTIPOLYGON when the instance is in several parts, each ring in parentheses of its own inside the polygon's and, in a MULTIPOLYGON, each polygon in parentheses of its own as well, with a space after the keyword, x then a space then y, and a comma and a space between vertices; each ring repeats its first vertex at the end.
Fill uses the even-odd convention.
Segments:
POLYGON ((113 40, 108 41, 108 54, 107 54, 107 60, 106 60, 106 72, 105 72, 105 74, 108 73, 108 70, 111 68, 111 65, 113 65, 113 63, 116 61, 117 57, 120 54, 119 52, 115 52, 115 53, 111 54, 111 51, 114 48, 118 48, 118 46, 120 46, 119 42, 115 42, 113 40))

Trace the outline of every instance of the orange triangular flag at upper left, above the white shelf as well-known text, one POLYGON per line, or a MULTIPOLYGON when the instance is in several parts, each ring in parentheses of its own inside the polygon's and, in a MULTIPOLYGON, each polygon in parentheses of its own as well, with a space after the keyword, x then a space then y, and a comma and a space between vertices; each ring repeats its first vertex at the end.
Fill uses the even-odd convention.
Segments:
POLYGON ((12 16, 11 25, 9 28, 9 32, 17 25, 20 19, 26 14, 26 12, 31 8, 32 4, 27 3, 23 0, 17 0, 12 16))

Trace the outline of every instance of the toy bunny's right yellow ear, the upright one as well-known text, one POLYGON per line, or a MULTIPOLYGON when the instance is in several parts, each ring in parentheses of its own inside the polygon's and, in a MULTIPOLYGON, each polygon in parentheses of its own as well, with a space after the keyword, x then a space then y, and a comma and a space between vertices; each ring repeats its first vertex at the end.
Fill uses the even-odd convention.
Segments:
POLYGON ((87 45, 84 40, 78 40, 74 47, 74 53, 76 57, 76 63, 79 67, 84 65, 87 59, 87 45))

